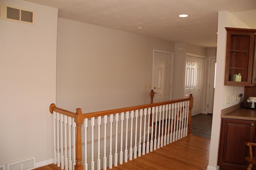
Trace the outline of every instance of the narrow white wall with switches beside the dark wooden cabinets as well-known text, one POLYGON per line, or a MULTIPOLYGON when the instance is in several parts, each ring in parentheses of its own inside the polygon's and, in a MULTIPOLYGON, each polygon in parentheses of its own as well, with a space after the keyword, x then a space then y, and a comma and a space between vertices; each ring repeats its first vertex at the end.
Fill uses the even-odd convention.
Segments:
POLYGON ((226 29, 225 27, 250 28, 244 22, 236 18, 227 11, 218 12, 218 40, 217 40, 217 59, 216 59, 216 88, 214 94, 214 108, 212 119, 212 135, 210 144, 210 157, 208 170, 218 168, 218 146, 220 137, 220 111, 226 107, 233 106, 237 102, 230 102, 224 105, 225 97, 234 94, 244 94, 244 87, 224 86, 225 56, 226 56, 226 29))

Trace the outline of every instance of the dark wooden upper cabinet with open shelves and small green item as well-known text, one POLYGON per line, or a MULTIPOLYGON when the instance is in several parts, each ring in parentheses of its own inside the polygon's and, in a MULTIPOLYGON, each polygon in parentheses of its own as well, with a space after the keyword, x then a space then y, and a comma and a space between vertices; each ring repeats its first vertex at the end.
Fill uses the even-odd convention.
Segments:
POLYGON ((228 28, 224 85, 256 86, 255 33, 256 29, 228 28), (234 74, 241 74, 241 82, 234 74))

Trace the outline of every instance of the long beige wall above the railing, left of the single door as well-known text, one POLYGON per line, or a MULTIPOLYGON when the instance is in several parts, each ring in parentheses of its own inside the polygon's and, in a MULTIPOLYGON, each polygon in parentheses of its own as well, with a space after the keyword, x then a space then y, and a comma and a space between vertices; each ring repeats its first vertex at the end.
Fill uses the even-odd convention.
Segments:
POLYGON ((57 106, 88 113, 149 104, 154 49, 173 52, 174 43, 59 18, 57 106))

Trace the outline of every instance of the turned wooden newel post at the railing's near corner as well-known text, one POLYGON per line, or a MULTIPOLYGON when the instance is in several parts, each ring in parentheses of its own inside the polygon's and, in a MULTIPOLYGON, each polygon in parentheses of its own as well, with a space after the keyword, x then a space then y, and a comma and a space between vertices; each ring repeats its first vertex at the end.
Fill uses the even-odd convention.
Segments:
POLYGON ((82 139, 81 139, 81 124, 84 121, 82 109, 76 109, 76 165, 75 170, 83 170, 82 166, 82 139))

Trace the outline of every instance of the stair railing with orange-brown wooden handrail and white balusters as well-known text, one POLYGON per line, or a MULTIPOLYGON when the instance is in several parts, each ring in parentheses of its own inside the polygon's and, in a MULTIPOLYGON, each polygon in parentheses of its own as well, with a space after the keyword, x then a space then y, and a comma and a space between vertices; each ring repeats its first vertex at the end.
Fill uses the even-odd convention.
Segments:
POLYGON ((192 106, 192 94, 179 100, 93 113, 82 113, 80 108, 73 113, 51 104, 54 164, 65 170, 94 170, 97 153, 96 168, 106 170, 169 145, 191 134, 192 106))

